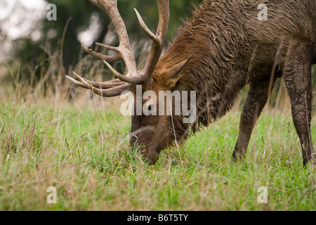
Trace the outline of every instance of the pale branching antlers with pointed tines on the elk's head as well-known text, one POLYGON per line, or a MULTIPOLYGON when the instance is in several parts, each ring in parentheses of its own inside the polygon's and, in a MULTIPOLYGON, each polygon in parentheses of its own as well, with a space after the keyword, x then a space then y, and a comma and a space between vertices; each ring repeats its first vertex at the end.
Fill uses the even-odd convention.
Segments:
POLYGON ((84 50, 91 56, 103 60, 107 68, 118 77, 108 82, 92 82, 83 77, 80 77, 74 72, 74 75, 79 79, 73 79, 72 77, 66 76, 74 84, 81 86, 85 89, 91 89, 93 92, 100 96, 112 97, 118 96, 122 91, 131 91, 136 88, 137 84, 148 85, 152 82, 152 72, 156 67, 158 60, 162 54, 162 48, 164 39, 166 37, 166 31, 169 25, 169 0, 157 0, 159 9, 159 23, 156 34, 153 34, 148 27, 145 25, 143 19, 141 18, 138 11, 134 8, 140 26, 143 28, 145 34, 152 39, 152 46, 150 48, 150 53, 147 58, 145 68, 141 71, 137 71, 136 60, 133 57, 131 51, 131 46, 129 44, 129 36, 126 32, 126 27, 121 15, 117 9, 117 0, 89 0, 99 8, 103 9, 109 15, 115 29, 117 30, 117 35, 119 37, 119 46, 108 46, 105 44, 96 43, 98 46, 102 46, 105 49, 110 49, 116 51, 117 54, 114 56, 105 56, 101 53, 97 53, 91 49, 88 49, 81 42, 84 50), (124 60, 127 69, 127 75, 121 75, 117 70, 112 68, 109 63, 114 63, 119 60, 124 60))

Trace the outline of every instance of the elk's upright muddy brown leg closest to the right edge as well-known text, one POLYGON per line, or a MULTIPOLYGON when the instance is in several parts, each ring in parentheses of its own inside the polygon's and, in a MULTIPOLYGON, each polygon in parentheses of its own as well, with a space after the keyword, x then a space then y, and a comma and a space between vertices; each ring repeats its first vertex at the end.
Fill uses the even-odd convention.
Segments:
POLYGON ((303 165, 312 159, 310 120, 312 112, 311 54, 308 45, 296 46, 289 51, 284 66, 284 81, 291 98, 291 113, 296 133, 301 142, 303 165))

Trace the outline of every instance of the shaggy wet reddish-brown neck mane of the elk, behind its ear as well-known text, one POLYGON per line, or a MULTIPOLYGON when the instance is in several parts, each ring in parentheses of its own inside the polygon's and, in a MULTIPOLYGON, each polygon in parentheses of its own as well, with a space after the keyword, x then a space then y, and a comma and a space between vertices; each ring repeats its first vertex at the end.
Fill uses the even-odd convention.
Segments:
POLYGON ((238 13, 229 10, 218 1, 204 1, 202 6, 195 8, 192 19, 180 28, 157 64, 156 74, 159 75, 159 70, 166 70, 192 56, 185 75, 173 90, 197 92, 197 120, 195 124, 183 124, 183 117, 173 117, 171 129, 178 141, 225 115, 246 83, 242 79, 246 76, 241 74, 249 59, 245 51, 237 53, 236 50, 237 45, 239 50, 246 48, 246 35, 237 18, 232 20, 238 13), (229 20, 225 19, 226 15, 229 20), (240 60, 241 57, 244 58, 240 60))

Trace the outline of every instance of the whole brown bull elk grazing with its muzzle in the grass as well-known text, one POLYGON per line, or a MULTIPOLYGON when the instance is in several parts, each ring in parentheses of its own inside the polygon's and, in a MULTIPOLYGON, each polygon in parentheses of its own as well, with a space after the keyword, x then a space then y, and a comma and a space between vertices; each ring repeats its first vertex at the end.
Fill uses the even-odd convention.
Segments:
MULTIPOLYGON (((164 53, 162 46, 169 23, 169 1, 157 0, 159 25, 153 34, 136 11, 145 33, 152 39, 144 70, 137 71, 123 20, 115 0, 91 0, 110 16, 117 29, 118 47, 99 44, 117 51, 105 56, 84 49, 118 77, 109 82, 91 82, 75 74, 75 84, 105 97, 122 91, 196 91, 197 117, 183 123, 183 115, 133 115, 131 144, 138 143, 151 163, 164 148, 218 120, 232 108, 240 89, 249 84, 242 110, 239 136, 233 159, 244 158, 254 129, 278 77, 284 77, 294 125, 301 141, 303 165, 313 155, 310 120, 312 110, 311 65, 316 63, 316 0, 265 1, 268 20, 258 20, 256 0, 209 0, 195 8, 193 16, 180 27, 164 53), (123 59, 128 74, 119 74, 109 63, 123 59)), ((136 98, 136 97, 135 97, 136 98)), ((157 99, 150 107, 158 107, 157 99)), ((189 99, 190 101, 190 99, 189 99)), ((174 105, 173 105, 174 108, 174 105)))

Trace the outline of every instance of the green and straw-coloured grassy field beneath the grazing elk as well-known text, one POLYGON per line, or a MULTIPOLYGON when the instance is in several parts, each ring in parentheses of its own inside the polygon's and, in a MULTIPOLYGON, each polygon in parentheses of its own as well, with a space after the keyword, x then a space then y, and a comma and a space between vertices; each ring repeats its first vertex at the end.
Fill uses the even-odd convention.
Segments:
POLYGON ((1 89, 0 210, 316 209, 315 166, 302 167, 287 108, 265 108, 244 163, 230 160, 237 106, 147 165, 129 149, 130 117, 120 115, 119 101, 80 91, 67 101, 1 89), (55 204, 46 200, 50 186, 55 204), (262 186, 266 204, 258 203, 262 186))

